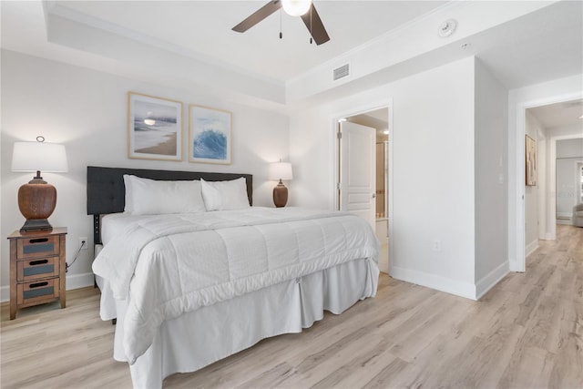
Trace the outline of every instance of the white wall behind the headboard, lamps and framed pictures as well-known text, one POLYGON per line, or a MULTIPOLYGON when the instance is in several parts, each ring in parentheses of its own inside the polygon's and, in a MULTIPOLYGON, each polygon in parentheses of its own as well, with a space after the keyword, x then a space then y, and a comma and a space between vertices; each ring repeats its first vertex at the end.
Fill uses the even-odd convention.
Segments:
MULTIPOLYGON (((32 173, 10 170, 16 140, 46 141, 66 146, 69 171, 43 174, 57 189, 56 210, 49 218, 53 226, 68 228, 66 261, 73 261, 79 237, 92 248, 92 219, 86 209, 87 165, 143 169, 175 169, 251 173, 254 175, 254 204, 271 206, 267 165, 287 159, 289 119, 253 107, 242 106, 209 90, 164 87, 96 70, 74 67, 33 56, 2 51, 2 122, 0 180, 2 221, 0 225, 2 276, 1 300, 8 300, 9 252, 5 237, 24 223, 17 206, 20 185, 32 173), (134 91, 183 102, 182 162, 128 159, 127 93, 134 91), (199 104, 232 112, 232 164, 208 165, 188 162, 188 104, 199 104)), ((293 187, 293 185, 291 185, 293 187)), ((291 188, 293 199, 293 188, 291 188)), ((82 251, 66 274, 67 289, 93 284, 92 249, 82 251)))

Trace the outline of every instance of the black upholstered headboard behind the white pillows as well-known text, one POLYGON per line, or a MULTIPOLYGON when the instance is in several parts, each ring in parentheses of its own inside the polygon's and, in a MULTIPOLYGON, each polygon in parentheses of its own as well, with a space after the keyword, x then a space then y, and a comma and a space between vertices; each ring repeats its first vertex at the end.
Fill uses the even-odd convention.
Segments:
POLYGON ((124 174, 131 174, 143 179, 160 180, 205 179, 207 181, 223 181, 244 177, 247 179, 249 203, 253 205, 253 176, 251 174, 87 166, 87 215, 94 215, 93 235, 96 244, 101 242, 99 215, 124 211, 126 203, 124 174))

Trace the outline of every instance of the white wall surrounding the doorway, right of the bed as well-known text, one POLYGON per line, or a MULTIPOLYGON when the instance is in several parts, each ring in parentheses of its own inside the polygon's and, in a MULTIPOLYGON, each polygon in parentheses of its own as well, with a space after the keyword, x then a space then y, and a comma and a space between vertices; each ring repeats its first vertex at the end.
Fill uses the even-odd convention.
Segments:
POLYGON ((468 57, 302 110, 290 128, 294 201, 332 208, 334 119, 392 101, 390 272, 470 298, 476 292, 474 64, 468 57), (435 241, 440 251, 432 250, 435 241))

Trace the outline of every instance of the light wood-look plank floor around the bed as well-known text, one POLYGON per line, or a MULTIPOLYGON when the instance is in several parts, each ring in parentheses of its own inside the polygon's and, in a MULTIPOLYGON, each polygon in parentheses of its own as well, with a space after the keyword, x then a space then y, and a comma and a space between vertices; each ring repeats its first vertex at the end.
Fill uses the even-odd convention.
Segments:
MULTIPOLYGON (((382 275, 376 298, 164 386, 582 388, 583 229, 557 234, 480 302, 382 275)), ((52 308, 8 322, 2 307, 2 388, 130 387, 97 291, 52 308)))

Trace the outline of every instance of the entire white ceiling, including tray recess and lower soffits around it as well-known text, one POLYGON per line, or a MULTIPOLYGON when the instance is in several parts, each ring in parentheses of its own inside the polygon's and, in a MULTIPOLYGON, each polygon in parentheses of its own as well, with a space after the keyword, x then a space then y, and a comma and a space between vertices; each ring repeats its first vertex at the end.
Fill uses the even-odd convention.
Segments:
POLYGON ((2 46, 275 109, 465 56, 508 89, 583 69, 581 1, 315 0, 332 38, 321 46, 309 44, 300 18, 279 12, 244 34, 231 31, 265 1, 1 1, 2 46), (439 37, 449 18, 454 34, 439 37), (346 63, 351 77, 332 83, 333 67, 346 63))

